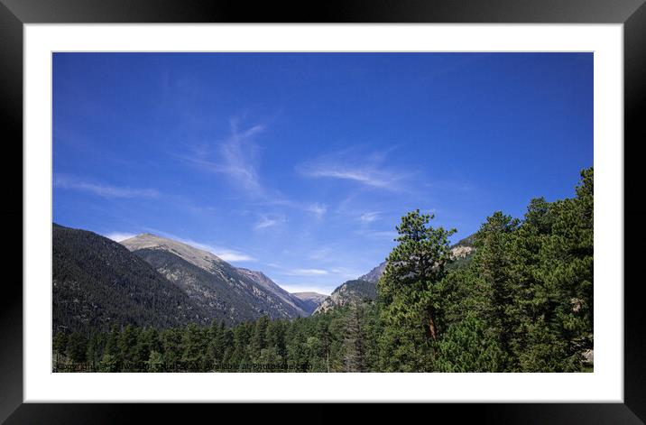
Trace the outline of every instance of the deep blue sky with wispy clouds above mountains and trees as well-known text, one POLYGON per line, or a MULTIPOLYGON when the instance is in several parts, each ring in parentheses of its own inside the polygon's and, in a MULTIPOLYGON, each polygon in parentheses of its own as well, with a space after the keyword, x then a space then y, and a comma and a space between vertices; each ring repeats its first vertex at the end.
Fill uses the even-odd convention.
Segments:
POLYGON ((407 211, 475 232, 593 164, 591 53, 56 53, 53 219, 329 293, 407 211))

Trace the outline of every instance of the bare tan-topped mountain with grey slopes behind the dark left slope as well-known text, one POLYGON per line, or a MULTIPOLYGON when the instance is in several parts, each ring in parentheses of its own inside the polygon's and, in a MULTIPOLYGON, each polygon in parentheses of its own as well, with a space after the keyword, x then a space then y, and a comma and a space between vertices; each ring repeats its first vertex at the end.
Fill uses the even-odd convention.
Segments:
POLYGON ((160 236, 143 234, 121 242, 189 294, 191 300, 228 323, 309 316, 297 297, 261 272, 238 269, 217 255, 160 236))

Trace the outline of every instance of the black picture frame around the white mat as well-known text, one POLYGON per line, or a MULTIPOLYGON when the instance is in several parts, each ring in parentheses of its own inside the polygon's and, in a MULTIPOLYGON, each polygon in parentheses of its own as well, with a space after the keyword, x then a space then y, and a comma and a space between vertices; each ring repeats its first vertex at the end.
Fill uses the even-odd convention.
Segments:
MULTIPOLYGON (((453 420, 474 415, 484 423, 632 424, 646 422, 646 337, 641 314, 641 280, 629 279, 640 263, 646 209, 636 153, 646 140, 646 5, 644 0, 340 0, 299 4, 203 0, 0 0, 0 116, 5 182, 23 175, 23 24, 25 23, 623 23, 624 60, 624 397, 623 403, 436 404, 433 417, 453 420), (20 158, 20 161, 18 160, 20 158), (8 160, 8 161, 7 161, 8 160), (8 165, 8 166, 7 166, 8 165), (630 244, 635 245, 631 249, 630 244)), ((16 182, 17 183, 17 182, 16 182)), ((23 403, 23 185, 5 185, 0 218, 11 241, 0 295, 0 422, 114 423, 155 415, 166 420, 212 413, 210 404, 55 404, 23 403), (21 223, 21 226, 18 226, 21 223), (18 244, 18 241, 21 241, 18 244), (16 248, 21 247, 21 249, 16 248), (5 274, 6 275, 6 274, 5 274), (20 280, 20 281, 19 281, 20 280)), ((221 409, 221 407, 217 407, 221 409)), ((262 409, 243 409, 246 420, 263 418, 262 409)), ((317 411, 326 410, 318 406, 317 411)), ((425 411, 431 411, 429 407, 425 411)), ((381 412, 381 406, 372 411, 381 412)), ((280 411, 280 410, 277 410, 280 411)), ((283 410, 284 411, 284 408, 283 410)), ((318 415, 312 415, 321 418, 318 415)), ((352 416, 346 416, 351 418, 352 416)), ((221 418, 224 418, 222 416, 221 418)))

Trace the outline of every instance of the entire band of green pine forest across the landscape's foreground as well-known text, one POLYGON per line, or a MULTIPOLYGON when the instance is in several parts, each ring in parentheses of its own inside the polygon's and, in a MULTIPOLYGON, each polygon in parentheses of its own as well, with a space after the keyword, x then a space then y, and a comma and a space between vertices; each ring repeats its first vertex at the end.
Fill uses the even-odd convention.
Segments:
POLYGON ((411 212, 375 301, 231 328, 60 332, 54 361, 105 372, 589 371, 593 193, 588 169, 575 198, 532 199, 522 220, 495 212, 475 234, 475 254, 459 261, 448 243, 455 230, 411 212))

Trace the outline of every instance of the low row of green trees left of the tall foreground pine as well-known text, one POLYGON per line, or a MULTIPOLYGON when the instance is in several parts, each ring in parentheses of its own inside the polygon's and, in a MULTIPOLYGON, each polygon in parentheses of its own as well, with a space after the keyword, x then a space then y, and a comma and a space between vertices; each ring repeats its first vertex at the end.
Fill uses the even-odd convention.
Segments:
POLYGON ((216 321, 210 327, 189 324, 162 331, 114 327, 110 332, 89 337, 80 332, 59 332, 53 343, 55 369, 66 371, 82 366, 78 370, 97 372, 350 371, 368 353, 358 352, 356 359, 350 358, 352 350, 346 346, 363 343, 374 335, 369 332, 371 319, 367 314, 356 317, 349 313, 349 308, 341 308, 307 319, 262 317, 234 327, 216 321), (352 329, 349 334, 348 329, 352 329))

